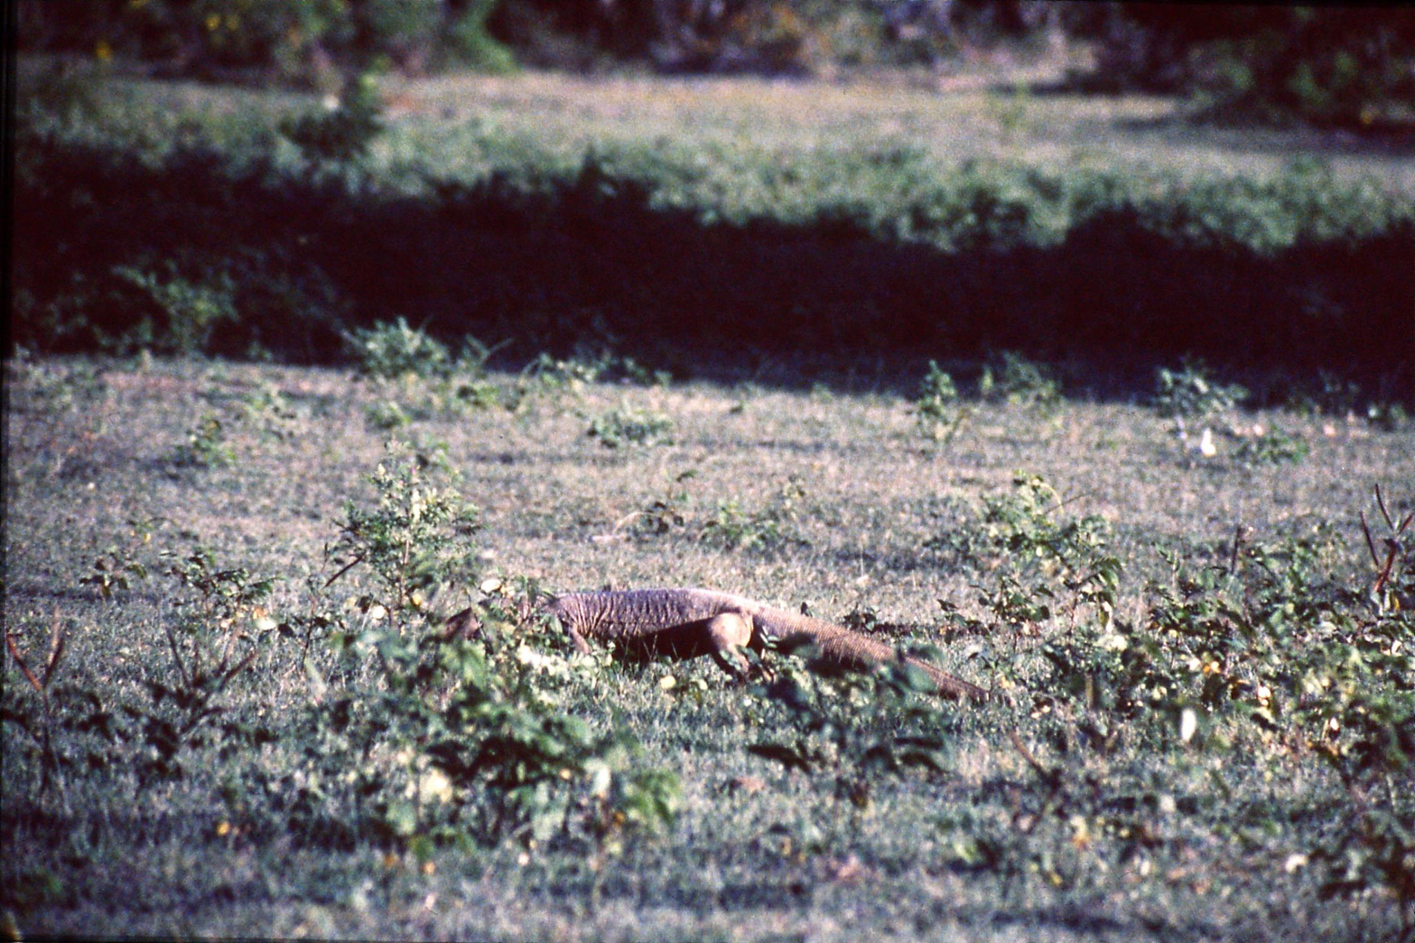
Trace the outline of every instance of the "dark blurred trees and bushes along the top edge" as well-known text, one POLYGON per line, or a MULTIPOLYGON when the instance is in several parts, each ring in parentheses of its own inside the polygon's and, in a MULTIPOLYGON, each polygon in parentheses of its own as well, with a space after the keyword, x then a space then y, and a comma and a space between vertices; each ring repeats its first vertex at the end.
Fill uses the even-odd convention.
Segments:
POLYGON ((1070 82, 1215 112, 1415 124, 1415 10, 1061 0, 21 0, 21 51, 330 86, 368 68, 822 75, 1084 44, 1070 82))

